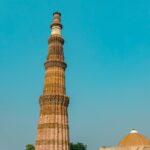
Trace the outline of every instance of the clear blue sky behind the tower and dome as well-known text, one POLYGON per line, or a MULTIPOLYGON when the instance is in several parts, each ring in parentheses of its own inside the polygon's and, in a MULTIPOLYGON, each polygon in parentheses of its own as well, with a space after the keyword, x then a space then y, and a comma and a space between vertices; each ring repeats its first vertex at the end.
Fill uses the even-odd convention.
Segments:
POLYGON ((62 13, 69 122, 88 150, 150 136, 149 0, 0 0, 0 149, 36 140, 52 13, 62 13))

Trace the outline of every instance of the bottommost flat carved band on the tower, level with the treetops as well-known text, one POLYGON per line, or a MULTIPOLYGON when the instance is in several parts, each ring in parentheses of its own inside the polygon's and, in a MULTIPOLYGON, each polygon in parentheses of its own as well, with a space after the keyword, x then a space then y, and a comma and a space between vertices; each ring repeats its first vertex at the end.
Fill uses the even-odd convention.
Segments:
POLYGON ((36 141, 36 145, 67 145, 68 141, 64 140, 38 140, 36 141))

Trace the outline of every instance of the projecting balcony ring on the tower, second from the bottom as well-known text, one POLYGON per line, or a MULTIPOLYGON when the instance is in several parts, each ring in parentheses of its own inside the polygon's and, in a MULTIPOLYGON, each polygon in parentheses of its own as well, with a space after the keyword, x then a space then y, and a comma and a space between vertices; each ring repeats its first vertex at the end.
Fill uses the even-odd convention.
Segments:
POLYGON ((47 69, 48 67, 62 67, 63 69, 66 69, 67 65, 65 62, 61 62, 61 61, 47 61, 45 64, 45 69, 47 69))

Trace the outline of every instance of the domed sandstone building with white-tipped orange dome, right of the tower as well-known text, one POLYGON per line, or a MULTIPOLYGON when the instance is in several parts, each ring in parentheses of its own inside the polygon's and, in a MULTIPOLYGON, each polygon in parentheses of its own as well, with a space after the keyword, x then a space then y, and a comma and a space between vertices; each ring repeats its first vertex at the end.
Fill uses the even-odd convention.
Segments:
POLYGON ((120 140, 116 147, 101 147, 100 150, 150 150, 150 139, 133 129, 120 140))

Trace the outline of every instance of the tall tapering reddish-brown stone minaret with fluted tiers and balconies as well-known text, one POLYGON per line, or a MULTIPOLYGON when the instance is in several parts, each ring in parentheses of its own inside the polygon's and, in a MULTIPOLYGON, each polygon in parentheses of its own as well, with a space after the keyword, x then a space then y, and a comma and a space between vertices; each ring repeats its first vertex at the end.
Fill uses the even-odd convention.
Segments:
POLYGON ((69 150, 69 126, 66 96, 61 14, 53 14, 48 57, 45 62, 43 95, 40 97, 40 116, 35 150, 69 150))

